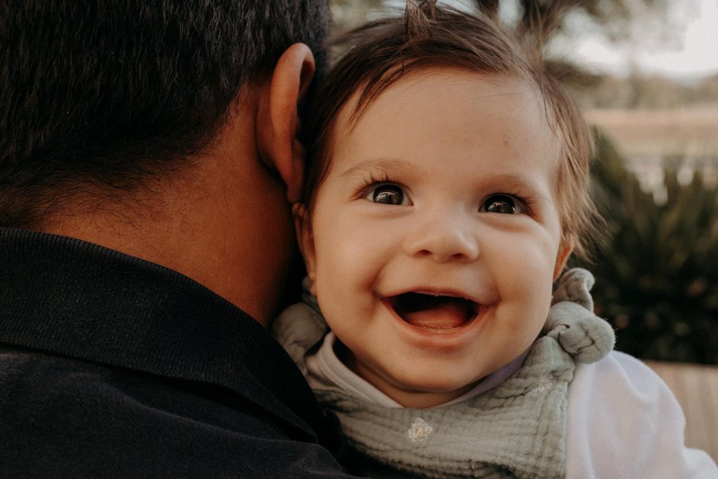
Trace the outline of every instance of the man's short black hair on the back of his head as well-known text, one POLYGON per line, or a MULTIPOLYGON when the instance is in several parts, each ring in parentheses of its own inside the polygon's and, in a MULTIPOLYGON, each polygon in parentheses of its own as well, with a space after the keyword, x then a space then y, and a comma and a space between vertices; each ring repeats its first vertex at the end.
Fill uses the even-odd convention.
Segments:
POLYGON ((3 1, 0 226, 187 164, 243 85, 294 42, 320 52, 328 24, 327 0, 3 1))

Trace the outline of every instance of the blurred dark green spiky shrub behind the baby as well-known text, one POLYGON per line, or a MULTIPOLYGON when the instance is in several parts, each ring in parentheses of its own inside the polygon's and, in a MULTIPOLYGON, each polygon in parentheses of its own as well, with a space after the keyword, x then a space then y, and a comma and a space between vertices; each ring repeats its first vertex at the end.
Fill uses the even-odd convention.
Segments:
POLYGON ((656 205, 597 133, 595 195, 607 222, 595 264, 597 314, 617 350, 638 358, 718 364, 718 190, 701 175, 681 185, 666 169, 656 205))

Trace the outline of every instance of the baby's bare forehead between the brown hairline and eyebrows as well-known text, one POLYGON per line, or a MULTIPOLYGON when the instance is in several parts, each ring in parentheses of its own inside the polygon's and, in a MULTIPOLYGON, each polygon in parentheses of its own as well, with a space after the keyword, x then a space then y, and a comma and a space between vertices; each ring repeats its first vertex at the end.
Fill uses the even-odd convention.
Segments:
POLYGON ((556 176, 558 138, 543 102, 521 80, 453 70, 414 73, 365 109, 358 110, 358 102, 355 94, 338 115, 331 155, 337 169, 366 159, 403 159, 429 173, 454 162, 474 176, 473 158, 488 160, 495 175, 539 162, 556 176))

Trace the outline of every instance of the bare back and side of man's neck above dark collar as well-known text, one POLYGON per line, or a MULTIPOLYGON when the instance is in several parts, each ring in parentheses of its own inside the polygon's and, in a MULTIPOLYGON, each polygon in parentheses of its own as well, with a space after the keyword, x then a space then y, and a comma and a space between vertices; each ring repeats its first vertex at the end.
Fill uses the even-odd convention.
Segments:
POLYGON ((258 160, 253 125, 242 124, 250 117, 230 118, 211 151, 174 177, 124 201, 82 198, 42 230, 179 271, 266 325, 294 234, 284 185, 258 160))

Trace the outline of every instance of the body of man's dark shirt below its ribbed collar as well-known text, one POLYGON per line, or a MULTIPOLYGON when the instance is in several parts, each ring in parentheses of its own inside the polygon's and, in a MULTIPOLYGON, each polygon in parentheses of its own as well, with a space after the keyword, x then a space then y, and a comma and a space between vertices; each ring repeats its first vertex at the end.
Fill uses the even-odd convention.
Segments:
POLYGON ((0 417, 4 476, 341 475, 223 388, 34 350, 0 348, 0 417))

